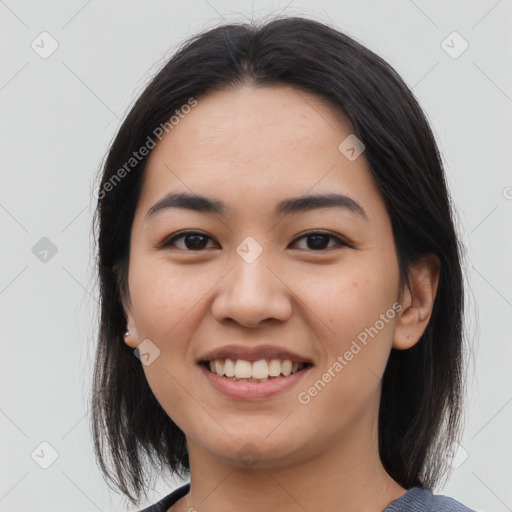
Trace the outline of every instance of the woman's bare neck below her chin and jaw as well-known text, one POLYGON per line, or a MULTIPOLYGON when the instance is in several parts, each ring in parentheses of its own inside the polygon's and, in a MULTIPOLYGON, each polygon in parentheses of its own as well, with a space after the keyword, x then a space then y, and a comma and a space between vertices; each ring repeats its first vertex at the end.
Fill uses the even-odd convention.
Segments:
POLYGON ((382 466, 376 429, 361 427, 314 457, 261 469, 230 465, 189 440, 190 493, 171 510, 381 512, 405 489, 382 466))

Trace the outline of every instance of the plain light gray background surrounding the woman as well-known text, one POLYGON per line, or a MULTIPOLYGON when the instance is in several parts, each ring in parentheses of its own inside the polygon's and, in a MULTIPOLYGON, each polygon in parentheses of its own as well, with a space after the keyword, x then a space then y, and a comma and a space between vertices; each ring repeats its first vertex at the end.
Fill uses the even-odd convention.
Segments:
MULTIPOLYGON (((94 175, 129 106, 178 43, 224 20, 280 12, 332 22, 384 57, 432 123, 468 248, 474 352, 457 469, 438 492, 479 511, 512 510, 512 0, 5 0, 1 511, 134 510, 104 483, 88 426, 94 175), (58 43, 47 59, 31 48, 34 40, 50 48, 43 31, 58 43), (441 46, 453 31, 469 43, 456 59, 441 46), (32 252, 42 237, 57 247, 46 262, 32 252), (43 441, 58 452, 48 469, 31 458, 36 449, 50 461, 43 441)), ((151 499, 169 490, 158 482, 151 499)))

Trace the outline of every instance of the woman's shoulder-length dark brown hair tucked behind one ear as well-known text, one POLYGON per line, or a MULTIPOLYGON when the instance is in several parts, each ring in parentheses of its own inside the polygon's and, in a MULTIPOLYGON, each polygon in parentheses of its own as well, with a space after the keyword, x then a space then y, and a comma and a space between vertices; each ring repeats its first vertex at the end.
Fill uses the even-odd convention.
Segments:
POLYGON ((153 470, 185 475, 189 466, 184 433, 155 399, 123 338, 130 232, 147 156, 129 168, 126 163, 190 98, 226 87, 274 84, 327 100, 364 143, 391 219, 402 282, 410 286, 409 266, 422 255, 433 253, 441 264, 423 336, 409 350, 393 349, 383 376, 384 468, 405 488, 433 488, 445 472, 443 450, 458 436, 462 246, 437 145, 413 93, 382 58, 323 23, 291 17, 224 25, 186 41, 154 76, 119 129, 101 173, 93 226, 101 318, 92 430, 107 481, 134 503, 153 470), (127 172, 120 173, 122 168, 127 172))

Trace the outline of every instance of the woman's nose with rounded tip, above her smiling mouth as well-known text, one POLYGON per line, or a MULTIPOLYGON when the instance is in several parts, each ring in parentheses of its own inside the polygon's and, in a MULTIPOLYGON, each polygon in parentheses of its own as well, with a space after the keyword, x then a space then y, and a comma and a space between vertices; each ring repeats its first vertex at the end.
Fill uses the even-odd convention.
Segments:
POLYGON ((248 263, 238 255, 234 268, 219 283, 212 314, 219 322, 256 327, 271 319, 286 321, 292 313, 291 292, 263 253, 248 263))

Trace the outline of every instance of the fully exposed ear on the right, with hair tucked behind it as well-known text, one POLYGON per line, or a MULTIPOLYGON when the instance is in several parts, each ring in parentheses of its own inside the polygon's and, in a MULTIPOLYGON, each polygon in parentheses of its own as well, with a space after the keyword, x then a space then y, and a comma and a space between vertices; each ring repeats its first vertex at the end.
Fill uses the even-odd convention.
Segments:
POLYGON ((407 350, 421 338, 432 315, 441 263, 435 254, 422 256, 409 267, 411 290, 401 290, 402 310, 398 317, 392 347, 407 350))

